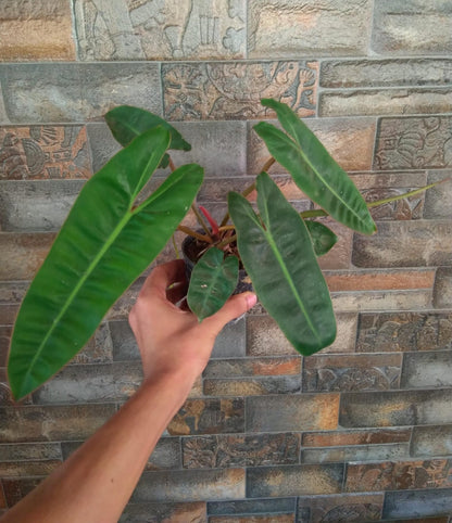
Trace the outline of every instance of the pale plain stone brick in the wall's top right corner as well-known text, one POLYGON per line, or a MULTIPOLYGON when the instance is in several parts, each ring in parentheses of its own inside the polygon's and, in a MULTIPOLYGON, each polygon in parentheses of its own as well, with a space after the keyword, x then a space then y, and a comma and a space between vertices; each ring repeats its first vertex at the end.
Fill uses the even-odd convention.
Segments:
POLYGON ((382 54, 450 54, 449 2, 381 0, 374 9, 372 48, 382 54))

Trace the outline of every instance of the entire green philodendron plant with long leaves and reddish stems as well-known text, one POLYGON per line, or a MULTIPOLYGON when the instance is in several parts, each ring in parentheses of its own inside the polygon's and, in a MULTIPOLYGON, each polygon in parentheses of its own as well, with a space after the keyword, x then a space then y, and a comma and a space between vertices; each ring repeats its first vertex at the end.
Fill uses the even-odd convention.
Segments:
MULTIPOLYGON (((324 145, 285 104, 262 100, 284 129, 262 122, 254 130, 271 153, 262 173, 242 194, 230 192, 218 225, 193 205, 203 180, 197 164, 175 168, 168 150, 190 145, 165 120, 120 106, 105 115, 124 146, 84 186, 20 309, 8 361, 16 399, 67 363, 102 318, 139 277, 176 229, 193 237, 200 259, 192 271, 188 304, 200 321, 234 292, 244 267, 267 312, 303 355, 331 344, 336 321, 317 257, 336 243, 329 215, 363 234, 373 234, 369 206, 324 145), (278 162, 319 208, 298 213, 266 174, 278 162), (139 197, 158 167, 171 175, 148 197, 139 197), (256 212, 247 195, 256 190, 256 212), (190 206, 202 232, 180 225, 190 206)), ((428 186, 431 187, 431 186, 428 186)))

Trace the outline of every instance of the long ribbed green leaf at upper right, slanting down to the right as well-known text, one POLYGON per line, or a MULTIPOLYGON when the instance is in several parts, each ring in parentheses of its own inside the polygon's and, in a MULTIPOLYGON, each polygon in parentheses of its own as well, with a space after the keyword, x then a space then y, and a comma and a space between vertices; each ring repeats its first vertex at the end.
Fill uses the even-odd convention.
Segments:
POLYGON ((267 99, 262 104, 276 111, 289 136, 265 122, 255 125, 254 130, 297 186, 336 220, 373 234, 376 226, 363 196, 322 142, 286 104, 267 99))

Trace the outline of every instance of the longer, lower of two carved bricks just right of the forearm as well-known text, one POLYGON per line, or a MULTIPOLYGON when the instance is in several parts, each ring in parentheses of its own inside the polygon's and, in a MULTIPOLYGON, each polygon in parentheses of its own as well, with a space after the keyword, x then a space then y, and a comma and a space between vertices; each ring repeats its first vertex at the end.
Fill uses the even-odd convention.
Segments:
POLYGON ((185 469, 296 464, 299 457, 299 434, 221 435, 183 439, 185 469))

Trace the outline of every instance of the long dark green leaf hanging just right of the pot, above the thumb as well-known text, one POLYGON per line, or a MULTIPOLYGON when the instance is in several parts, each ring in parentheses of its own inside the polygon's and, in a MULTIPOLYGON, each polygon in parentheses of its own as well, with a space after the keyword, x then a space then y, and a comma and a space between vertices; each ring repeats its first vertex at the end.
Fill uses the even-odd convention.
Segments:
POLYGON ((297 211, 266 173, 258 177, 260 217, 238 193, 229 193, 228 204, 241 260, 262 305, 301 354, 330 345, 331 299, 297 211))

